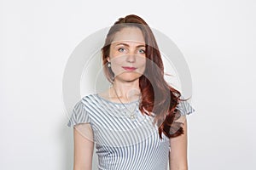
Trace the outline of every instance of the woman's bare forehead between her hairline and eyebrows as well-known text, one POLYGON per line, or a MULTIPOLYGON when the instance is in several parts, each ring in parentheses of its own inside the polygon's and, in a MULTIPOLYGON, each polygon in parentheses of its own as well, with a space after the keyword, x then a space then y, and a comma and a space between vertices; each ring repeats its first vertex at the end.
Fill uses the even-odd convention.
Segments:
POLYGON ((126 27, 117 31, 113 37, 114 42, 137 42, 145 43, 143 32, 137 27, 126 27))

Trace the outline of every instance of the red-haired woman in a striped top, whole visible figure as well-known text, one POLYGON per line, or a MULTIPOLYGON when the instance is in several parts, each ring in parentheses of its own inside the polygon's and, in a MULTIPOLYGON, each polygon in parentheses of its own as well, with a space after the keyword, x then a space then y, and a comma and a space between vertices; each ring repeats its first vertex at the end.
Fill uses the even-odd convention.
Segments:
POLYGON ((112 86, 84 96, 73 108, 73 169, 91 169, 94 143, 99 169, 188 169, 187 122, 195 111, 164 79, 160 51, 137 15, 108 31, 102 61, 112 86))

